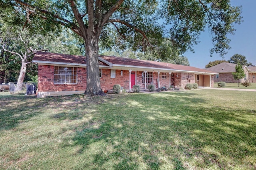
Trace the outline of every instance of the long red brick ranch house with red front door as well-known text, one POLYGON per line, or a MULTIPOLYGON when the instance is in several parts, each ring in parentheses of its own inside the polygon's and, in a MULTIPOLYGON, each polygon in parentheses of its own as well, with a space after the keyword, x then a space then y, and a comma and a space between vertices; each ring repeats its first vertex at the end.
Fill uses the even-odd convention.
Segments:
MULTIPOLYGON (((33 62, 38 64, 38 98, 56 95, 83 94, 86 90, 86 57, 38 52, 33 62)), ((213 87, 216 72, 156 61, 122 57, 99 56, 99 75, 102 90, 111 90, 120 84, 131 91, 137 84, 147 89, 163 86, 184 88, 187 83, 213 87)))

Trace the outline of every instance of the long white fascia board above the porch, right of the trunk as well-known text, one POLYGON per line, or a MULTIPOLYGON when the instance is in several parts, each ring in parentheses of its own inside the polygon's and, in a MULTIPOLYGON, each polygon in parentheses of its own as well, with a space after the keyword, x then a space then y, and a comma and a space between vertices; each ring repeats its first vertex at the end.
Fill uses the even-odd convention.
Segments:
MULTIPOLYGON (((152 67, 145 67, 145 66, 130 66, 130 65, 122 65, 122 64, 113 64, 113 67, 118 67, 120 69, 122 68, 127 68, 127 69, 140 69, 140 70, 145 70, 145 69, 148 69, 148 70, 154 70, 154 71, 161 71, 161 70, 164 70, 164 71, 171 71, 171 72, 188 72, 188 73, 195 73, 195 74, 209 74, 209 75, 212 75, 212 74, 218 74, 218 73, 211 73, 211 72, 198 72, 198 71, 187 71, 187 70, 174 70, 174 69, 168 69, 168 68, 152 68, 152 67)), ((114 68, 113 68, 114 69, 114 68)))

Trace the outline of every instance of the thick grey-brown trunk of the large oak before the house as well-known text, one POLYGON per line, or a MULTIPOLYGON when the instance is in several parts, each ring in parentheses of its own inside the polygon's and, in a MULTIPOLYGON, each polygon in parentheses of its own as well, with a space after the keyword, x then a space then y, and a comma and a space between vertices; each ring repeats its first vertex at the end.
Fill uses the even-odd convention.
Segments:
MULTIPOLYGON (((92 33, 93 34, 93 33, 92 33)), ((87 72, 87 87, 84 94, 88 96, 104 96, 106 95, 100 87, 99 76, 99 45, 96 35, 87 36, 85 39, 86 45, 86 72, 87 72)))

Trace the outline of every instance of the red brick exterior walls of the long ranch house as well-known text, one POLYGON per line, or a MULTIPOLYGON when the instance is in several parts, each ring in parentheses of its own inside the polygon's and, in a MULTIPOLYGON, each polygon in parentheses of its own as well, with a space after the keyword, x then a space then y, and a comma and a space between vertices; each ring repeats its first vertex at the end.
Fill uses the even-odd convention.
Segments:
MULTIPOLYGON (((100 78, 100 84, 102 90, 110 90, 115 84, 126 90, 129 90, 129 71, 123 70, 121 76, 121 70, 116 70, 116 78, 110 78, 111 70, 102 69, 102 77, 100 78)), ((195 82, 194 74, 190 75, 190 83, 195 82)), ((186 77, 188 73, 174 73, 175 87, 184 88, 188 83, 186 77)), ((158 72, 153 72, 153 83, 158 88, 158 72)), ((141 89, 145 88, 145 84, 142 84, 142 71, 136 71, 137 85, 141 89)), ((169 87, 170 74, 166 72, 166 79, 162 78, 162 72, 159 74, 160 88, 163 86, 169 87)), ((213 86, 213 79, 212 79, 213 86)), ((38 92, 55 92, 55 91, 80 91, 86 90, 86 68, 77 68, 77 84, 54 84, 54 66, 38 65, 38 92)))

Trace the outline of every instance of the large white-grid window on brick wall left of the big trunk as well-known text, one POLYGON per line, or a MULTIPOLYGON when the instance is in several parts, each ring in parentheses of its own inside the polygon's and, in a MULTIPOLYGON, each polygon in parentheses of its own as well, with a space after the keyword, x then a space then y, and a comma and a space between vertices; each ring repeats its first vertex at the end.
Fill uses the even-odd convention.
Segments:
POLYGON ((76 84, 77 68, 54 66, 54 84, 76 84))

